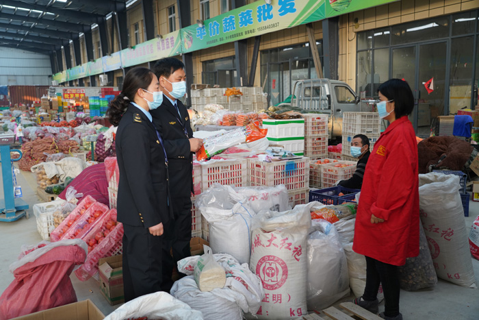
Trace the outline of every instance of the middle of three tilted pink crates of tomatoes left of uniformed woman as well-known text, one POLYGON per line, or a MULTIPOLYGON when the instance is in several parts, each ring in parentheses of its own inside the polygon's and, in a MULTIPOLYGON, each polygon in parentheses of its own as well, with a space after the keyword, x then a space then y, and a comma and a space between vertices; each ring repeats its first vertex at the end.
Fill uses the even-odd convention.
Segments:
MULTIPOLYGON (((108 212, 109 208, 100 202, 95 202, 86 210, 84 214, 79 217, 73 225, 64 232, 64 234, 58 234, 60 236, 60 240, 66 239, 83 239, 90 230, 94 229, 96 225, 101 224, 105 214, 108 212), (96 212, 99 212, 98 217, 95 217, 96 212), (100 213, 101 212, 101 213, 100 213), (79 233, 77 233, 79 231, 79 233)), ((69 217, 69 216, 68 216, 69 217)), ((60 227, 59 225, 58 227, 60 227)), ((60 229, 61 230, 61 229, 60 229)), ((60 231, 59 230, 59 231, 60 231)))

